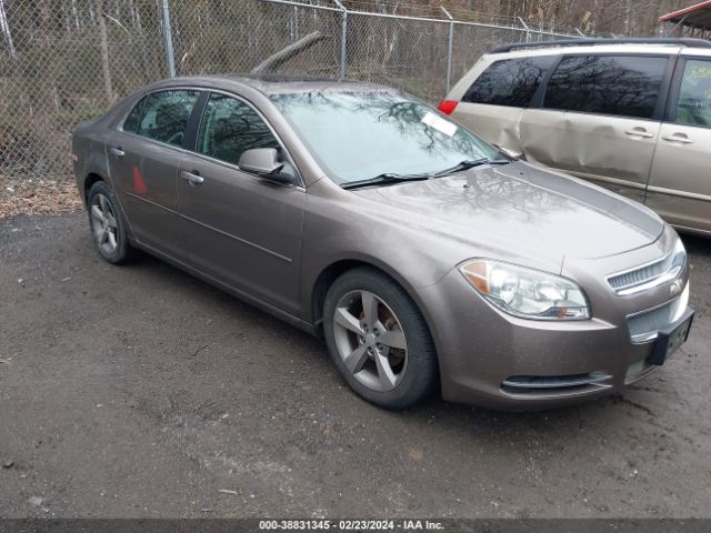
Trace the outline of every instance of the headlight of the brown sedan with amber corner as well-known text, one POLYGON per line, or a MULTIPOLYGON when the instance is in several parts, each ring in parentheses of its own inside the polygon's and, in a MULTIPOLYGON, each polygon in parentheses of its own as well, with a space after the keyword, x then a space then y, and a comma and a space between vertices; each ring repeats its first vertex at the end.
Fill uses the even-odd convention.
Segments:
POLYGON ((564 278, 484 259, 469 261, 459 270, 479 294, 514 316, 535 320, 590 318, 590 305, 582 289, 564 278))

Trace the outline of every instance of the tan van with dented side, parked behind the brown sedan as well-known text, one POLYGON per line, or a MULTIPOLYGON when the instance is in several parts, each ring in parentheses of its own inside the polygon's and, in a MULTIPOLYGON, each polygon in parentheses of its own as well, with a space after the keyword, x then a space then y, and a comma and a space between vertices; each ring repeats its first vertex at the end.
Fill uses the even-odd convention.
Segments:
POLYGON ((581 39, 483 56, 440 110, 505 153, 711 237, 711 42, 581 39))

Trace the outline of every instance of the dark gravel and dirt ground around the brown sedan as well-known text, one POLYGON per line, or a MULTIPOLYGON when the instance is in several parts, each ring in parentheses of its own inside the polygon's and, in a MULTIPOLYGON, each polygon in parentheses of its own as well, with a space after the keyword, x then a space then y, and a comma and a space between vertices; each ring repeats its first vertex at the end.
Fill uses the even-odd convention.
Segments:
POLYGON ((692 335, 612 398, 380 411, 320 341, 83 213, 0 220, 1 516, 711 516, 711 240, 692 335))

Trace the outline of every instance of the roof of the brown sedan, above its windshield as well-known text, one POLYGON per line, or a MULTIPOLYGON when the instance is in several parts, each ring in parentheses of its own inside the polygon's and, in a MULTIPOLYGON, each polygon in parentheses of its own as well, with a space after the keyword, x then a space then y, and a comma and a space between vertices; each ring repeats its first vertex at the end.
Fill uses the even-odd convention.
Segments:
POLYGON ((213 89, 247 86, 267 95, 312 91, 395 91, 378 83, 337 78, 313 78, 287 74, 210 74, 171 78, 154 83, 150 89, 194 84, 213 89))

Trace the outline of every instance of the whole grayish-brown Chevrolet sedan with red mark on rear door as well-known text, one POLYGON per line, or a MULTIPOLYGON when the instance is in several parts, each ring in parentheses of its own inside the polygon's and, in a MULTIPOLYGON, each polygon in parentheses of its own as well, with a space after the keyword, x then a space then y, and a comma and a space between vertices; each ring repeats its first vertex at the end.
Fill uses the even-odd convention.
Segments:
POLYGON ((689 334, 658 215, 385 87, 163 81, 80 124, 72 160, 104 260, 147 251, 322 335, 383 408, 619 393, 689 334))

